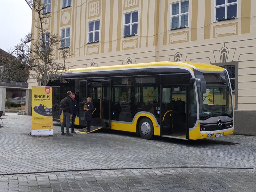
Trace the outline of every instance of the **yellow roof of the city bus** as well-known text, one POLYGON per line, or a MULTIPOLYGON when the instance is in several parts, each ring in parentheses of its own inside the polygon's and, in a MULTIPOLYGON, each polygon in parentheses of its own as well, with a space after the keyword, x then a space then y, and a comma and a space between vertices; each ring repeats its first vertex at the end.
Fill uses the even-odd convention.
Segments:
POLYGON ((101 70, 116 70, 116 69, 131 69, 131 68, 151 68, 151 67, 160 67, 160 66, 173 66, 173 67, 181 67, 187 68, 189 71, 193 71, 193 69, 198 70, 200 72, 223 72, 224 69, 222 67, 206 64, 206 63, 191 63, 191 62, 151 62, 151 63, 138 63, 138 64, 130 64, 130 65, 109 65, 109 66, 100 66, 100 67, 86 67, 86 68, 76 68, 69 69, 66 73, 69 72, 89 72, 89 71, 101 71, 101 70))

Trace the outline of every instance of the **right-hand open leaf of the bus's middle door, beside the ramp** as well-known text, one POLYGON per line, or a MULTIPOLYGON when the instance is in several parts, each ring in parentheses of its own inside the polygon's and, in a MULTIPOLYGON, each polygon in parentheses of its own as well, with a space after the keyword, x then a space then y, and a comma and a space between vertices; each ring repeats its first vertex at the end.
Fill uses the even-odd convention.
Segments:
POLYGON ((110 80, 102 80, 102 128, 110 129, 110 80))

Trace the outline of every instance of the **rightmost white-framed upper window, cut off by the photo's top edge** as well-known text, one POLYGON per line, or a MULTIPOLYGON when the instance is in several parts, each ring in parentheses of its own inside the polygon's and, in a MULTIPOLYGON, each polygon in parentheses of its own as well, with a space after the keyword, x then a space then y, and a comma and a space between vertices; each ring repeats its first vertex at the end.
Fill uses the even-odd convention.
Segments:
POLYGON ((215 21, 235 18, 237 0, 215 0, 215 21))

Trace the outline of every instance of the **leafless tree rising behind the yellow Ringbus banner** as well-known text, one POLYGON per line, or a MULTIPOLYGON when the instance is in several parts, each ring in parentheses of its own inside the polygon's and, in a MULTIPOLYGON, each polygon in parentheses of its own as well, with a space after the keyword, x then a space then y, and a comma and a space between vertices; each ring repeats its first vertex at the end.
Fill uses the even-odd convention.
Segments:
POLYGON ((26 64, 31 71, 30 77, 34 78, 39 85, 46 86, 49 81, 61 79, 62 74, 66 72, 69 67, 66 66, 66 59, 73 55, 70 48, 63 47, 63 41, 45 27, 48 24, 51 14, 45 14, 46 5, 42 0, 28 0, 27 1, 33 11, 36 12, 34 18, 37 34, 33 37, 30 33, 21 39, 21 43, 15 46, 13 53, 17 55, 21 63, 26 64), (58 55, 56 56, 56 52, 58 55))

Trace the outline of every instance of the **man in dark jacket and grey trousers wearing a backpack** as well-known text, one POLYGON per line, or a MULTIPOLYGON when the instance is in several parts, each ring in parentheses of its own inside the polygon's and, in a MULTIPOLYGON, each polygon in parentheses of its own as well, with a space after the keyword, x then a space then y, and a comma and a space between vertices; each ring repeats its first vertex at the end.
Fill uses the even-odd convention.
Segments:
POLYGON ((63 121, 61 123, 61 135, 66 135, 64 133, 64 127, 66 125, 66 132, 67 136, 72 136, 73 134, 69 133, 69 124, 70 124, 70 119, 73 116, 73 103, 72 103, 72 98, 71 98, 72 92, 68 91, 67 92, 67 99, 66 99, 66 109, 63 111, 63 121))

